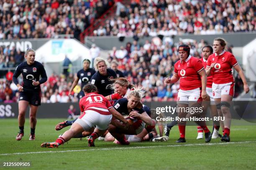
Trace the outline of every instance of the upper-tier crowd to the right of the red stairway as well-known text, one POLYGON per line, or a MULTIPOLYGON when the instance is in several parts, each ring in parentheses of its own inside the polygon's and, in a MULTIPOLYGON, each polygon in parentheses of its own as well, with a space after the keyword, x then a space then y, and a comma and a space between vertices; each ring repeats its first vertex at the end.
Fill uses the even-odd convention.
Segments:
MULTIPOLYGON (((119 5, 120 6, 120 5, 119 5)), ((94 35, 212 35, 256 30, 255 0, 131 0, 94 35)))

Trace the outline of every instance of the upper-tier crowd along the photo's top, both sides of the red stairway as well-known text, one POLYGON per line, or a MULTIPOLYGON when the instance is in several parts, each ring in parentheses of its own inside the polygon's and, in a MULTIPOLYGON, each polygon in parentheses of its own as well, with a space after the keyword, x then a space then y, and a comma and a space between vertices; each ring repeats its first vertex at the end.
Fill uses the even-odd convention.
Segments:
MULTIPOLYGON (((73 35, 118 0, 1 0, 0 40, 73 35)), ((255 0, 131 0, 95 36, 172 36, 256 30, 255 0)))

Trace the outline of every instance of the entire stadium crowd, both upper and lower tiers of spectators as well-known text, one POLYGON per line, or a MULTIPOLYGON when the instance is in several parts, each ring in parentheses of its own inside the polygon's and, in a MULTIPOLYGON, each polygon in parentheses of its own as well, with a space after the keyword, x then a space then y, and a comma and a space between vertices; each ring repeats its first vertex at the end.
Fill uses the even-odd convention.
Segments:
MULTIPOLYGON (((59 34, 74 34, 79 40, 80 32, 90 25, 90 21, 100 17, 113 3, 114 0, 2 0, 0 40, 58 37, 59 34)), ((107 20, 105 27, 100 26, 94 33, 96 36, 134 37, 125 47, 113 47, 108 60, 116 60, 118 70, 132 84, 145 87, 144 101, 175 100, 177 97, 179 83, 163 83, 165 77, 172 75, 174 63, 179 60, 177 46, 182 42, 174 44, 172 35, 256 30, 255 0, 131 0, 127 6, 117 4, 118 16, 107 20), (155 38, 138 44, 140 36, 155 38)), ((186 43, 191 48, 191 55, 198 58, 202 47, 207 45, 204 40, 186 43)), ((23 60, 24 54, 15 47, 0 46, 0 69, 16 67, 23 60)), ((17 87, 11 77, 11 72, 1 70, 0 102, 18 100, 17 87)), ((48 78, 41 85, 42 103, 78 101, 76 94, 67 96, 74 74, 48 78)), ((239 81, 241 78, 236 77, 236 96, 242 86, 239 81)))

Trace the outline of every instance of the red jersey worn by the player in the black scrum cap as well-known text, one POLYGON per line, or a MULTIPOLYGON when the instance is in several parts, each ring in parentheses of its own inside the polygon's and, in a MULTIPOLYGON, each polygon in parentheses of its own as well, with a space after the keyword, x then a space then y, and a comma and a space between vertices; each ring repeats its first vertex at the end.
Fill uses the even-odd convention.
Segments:
POLYGON ((187 60, 177 61, 174 65, 174 74, 180 77, 181 90, 193 90, 202 87, 201 77, 198 72, 202 71, 204 66, 202 61, 189 55, 187 60))

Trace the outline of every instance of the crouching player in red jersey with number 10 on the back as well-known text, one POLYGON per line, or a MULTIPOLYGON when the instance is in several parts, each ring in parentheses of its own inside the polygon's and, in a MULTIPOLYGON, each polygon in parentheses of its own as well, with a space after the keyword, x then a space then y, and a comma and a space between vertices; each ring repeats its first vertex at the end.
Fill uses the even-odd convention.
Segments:
POLYGON ((95 85, 87 84, 84 86, 83 91, 85 96, 79 102, 82 115, 55 142, 42 143, 41 147, 56 148, 69 141, 78 133, 89 131, 96 125, 94 132, 88 138, 88 146, 95 146, 94 140, 109 128, 112 115, 123 122, 123 129, 128 128, 128 121, 111 106, 104 96, 97 94, 97 87, 95 85))

